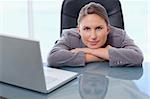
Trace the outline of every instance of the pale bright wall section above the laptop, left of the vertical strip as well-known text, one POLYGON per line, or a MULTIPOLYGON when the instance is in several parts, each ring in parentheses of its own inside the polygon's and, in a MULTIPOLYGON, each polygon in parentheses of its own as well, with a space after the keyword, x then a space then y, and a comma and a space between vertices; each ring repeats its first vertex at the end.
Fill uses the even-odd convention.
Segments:
POLYGON ((0 0, 0 33, 28 35, 26 1, 0 0))

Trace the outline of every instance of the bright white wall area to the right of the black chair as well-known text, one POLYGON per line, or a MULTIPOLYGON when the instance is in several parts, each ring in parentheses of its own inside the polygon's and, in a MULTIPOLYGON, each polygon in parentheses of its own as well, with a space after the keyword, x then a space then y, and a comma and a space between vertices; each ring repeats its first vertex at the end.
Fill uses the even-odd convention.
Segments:
POLYGON ((150 61, 150 13, 148 13, 150 12, 150 1, 120 1, 123 9, 125 30, 143 51, 144 61, 150 61))

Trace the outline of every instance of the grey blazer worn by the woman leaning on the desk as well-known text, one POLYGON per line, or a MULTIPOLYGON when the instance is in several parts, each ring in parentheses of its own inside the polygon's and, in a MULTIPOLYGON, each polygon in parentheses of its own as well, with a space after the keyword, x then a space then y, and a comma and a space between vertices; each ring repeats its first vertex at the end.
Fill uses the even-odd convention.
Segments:
MULTIPOLYGON (((74 48, 86 47, 76 28, 63 30, 62 37, 54 45, 48 56, 50 66, 85 66, 85 54, 83 52, 72 53, 74 48)), ((109 49, 110 66, 135 66, 143 62, 141 50, 134 44, 122 29, 111 26, 107 44, 113 46, 109 49)))

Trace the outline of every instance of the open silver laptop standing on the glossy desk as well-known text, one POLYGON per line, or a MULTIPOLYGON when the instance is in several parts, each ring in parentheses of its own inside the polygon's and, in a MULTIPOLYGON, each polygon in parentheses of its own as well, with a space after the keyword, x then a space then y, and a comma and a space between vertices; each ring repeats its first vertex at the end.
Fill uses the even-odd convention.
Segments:
POLYGON ((49 93, 77 75, 43 66, 39 41, 0 34, 0 82, 49 93))

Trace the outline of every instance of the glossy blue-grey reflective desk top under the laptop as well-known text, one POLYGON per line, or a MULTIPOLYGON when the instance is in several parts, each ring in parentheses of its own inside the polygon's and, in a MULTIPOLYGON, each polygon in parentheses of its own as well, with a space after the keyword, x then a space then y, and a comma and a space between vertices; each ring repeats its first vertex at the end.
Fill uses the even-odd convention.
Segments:
POLYGON ((0 83, 8 99, 150 99, 150 63, 142 67, 109 67, 107 62, 64 67, 79 72, 77 79, 49 94, 0 83))

